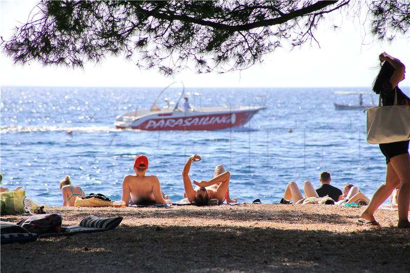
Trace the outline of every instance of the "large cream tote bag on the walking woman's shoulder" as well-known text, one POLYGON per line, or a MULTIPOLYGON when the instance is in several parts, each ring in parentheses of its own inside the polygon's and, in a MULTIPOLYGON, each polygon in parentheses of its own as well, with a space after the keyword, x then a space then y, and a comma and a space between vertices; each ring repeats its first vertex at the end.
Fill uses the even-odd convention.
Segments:
POLYGON ((367 112, 367 142, 392 143, 410 139, 410 106, 397 105, 397 90, 393 106, 380 106, 367 112))

